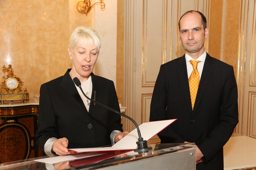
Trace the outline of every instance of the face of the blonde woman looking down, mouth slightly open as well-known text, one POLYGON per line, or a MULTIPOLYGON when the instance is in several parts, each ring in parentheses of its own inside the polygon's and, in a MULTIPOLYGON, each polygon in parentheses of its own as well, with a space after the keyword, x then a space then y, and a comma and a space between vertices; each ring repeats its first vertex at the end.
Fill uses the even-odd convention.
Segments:
POLYGON ((94 41, 78 41, 73 50, 69 48, 69 57, 73 61, 71 78, 77 77, 81 82, 86 81, 91 76, 98 58, 94 41))

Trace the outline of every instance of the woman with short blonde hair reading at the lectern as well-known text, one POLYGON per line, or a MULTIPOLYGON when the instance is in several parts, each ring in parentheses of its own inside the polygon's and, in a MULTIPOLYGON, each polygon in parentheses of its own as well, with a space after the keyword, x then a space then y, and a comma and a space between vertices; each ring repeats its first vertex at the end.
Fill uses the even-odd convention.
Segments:
POLYGON ((113 81, 92 73, 100 45, 95 30, 76 28, 68 48, 72 68, 41 85, 36 137, 39 148, 48 156, 72 154, 68 148, 114 144, 128 133, 122 132, 120 115, 90 103, 73 82, 77 77, 89 98, 120 111, 113 81))

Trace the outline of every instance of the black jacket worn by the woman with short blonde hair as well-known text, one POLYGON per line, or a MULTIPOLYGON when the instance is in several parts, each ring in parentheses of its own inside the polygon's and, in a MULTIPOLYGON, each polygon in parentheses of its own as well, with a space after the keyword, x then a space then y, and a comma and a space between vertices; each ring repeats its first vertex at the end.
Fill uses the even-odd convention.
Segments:
MULTIPOLYGON (((68 148, 111 144, 111 132, 122 131, 120 115, 92 102, 88 113, 69 71, 70 69, 64 76, 41 85, 39 126, 36 133, 40 149, 44 151, 44 145, 51 137, 68 138, 68 148)), ((91 76, 91 98, 120 111, 113 81, 93 73, 91 76)))

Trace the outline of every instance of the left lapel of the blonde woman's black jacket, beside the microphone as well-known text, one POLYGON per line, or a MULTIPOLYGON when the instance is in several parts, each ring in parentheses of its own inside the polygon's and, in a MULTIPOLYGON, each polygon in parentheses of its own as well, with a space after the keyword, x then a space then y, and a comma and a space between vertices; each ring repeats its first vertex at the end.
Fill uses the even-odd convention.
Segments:
MULTIPOLYGON (((66 92, 69 94, 71 100, 73 100, 74 103, 77 104, 77 106, 82 110, 82 112, 85 113, 86 115, 89 115, 88 111, 86 109, 86 106, 84 106, 83 101, 82 101, 79 93, 77 92, 75 84, 69 75, 69 72, 70 72, 70 69, 68 69, 66 74, 63 76, 61 86, 66 90, 66 92)), ((88 116, 88 117, 90 118, 90 116, 88 116)))

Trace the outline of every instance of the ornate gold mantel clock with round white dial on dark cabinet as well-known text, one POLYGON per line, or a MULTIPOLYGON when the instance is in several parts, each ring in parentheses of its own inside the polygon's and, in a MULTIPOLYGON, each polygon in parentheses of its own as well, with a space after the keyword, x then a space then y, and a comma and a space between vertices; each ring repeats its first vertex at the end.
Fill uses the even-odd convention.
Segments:
POLYGON ((6 76, 3 76, 3 80, 0 83, 0 102, 3 104, 4 101, 26 101, 29 100, 29 94, 27 89, 23 90, 23 82, 16 75, 12 69, 12 65, 8 67, 3 66, 3 72, 6 76))

